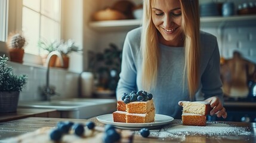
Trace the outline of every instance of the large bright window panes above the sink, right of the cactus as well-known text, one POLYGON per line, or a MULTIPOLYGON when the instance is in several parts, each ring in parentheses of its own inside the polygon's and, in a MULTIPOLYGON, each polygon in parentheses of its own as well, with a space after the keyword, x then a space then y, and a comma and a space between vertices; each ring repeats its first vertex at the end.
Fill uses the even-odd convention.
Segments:
POLYGON ((23 0, 22 31, 27 39, 25 52, 39 55, 39 39, 60 40, 60 0, 23 0))

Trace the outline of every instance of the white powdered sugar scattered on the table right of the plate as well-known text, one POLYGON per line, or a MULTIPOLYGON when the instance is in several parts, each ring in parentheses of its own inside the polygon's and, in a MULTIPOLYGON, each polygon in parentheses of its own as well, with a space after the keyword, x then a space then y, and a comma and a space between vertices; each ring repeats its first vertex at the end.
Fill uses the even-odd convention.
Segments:
MULTIPOLYGON (((135 134, 140 135, 139 131, 135 134)), ((207 123, 206 126, 184 126, 181 124, 172 124, 162 128, 161 130, 150 130, 150 136, 165 138, 178 137, 187 135, 250 135, 251 132, 247 128, 230 126, 223 123, 207 123)))

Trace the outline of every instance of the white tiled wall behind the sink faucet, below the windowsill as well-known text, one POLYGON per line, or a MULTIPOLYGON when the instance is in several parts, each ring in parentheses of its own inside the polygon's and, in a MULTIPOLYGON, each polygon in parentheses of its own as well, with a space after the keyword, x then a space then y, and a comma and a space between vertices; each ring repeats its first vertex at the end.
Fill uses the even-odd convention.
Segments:
MULTIPOLYGON (((28 76, 26 86, 23 91, 20 92, 19 102, 41 100, 39 88, 42 88, 46 84, 47 68, 41 66, 26 66, 13 62, 8 62, 7 64, 8 66, 13 67, 14 74, 27 74, 28 76)), ((55 92, 60 94, 60 96, 51 97, 51 100, 78 97, 78 73, 72 73, 58 68, 51 68, 49 81, 50 85, 55 86, 55 92)))

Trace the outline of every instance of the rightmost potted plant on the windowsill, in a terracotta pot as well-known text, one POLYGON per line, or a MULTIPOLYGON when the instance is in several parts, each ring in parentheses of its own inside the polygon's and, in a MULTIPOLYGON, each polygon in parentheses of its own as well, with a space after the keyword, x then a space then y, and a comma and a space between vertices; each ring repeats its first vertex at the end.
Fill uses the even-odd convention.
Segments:
POLYGON ((82 51, 82 49, 76 46, 75 42, 69 39, 67 41, 61 41, 60 45, 58 45, 57 51, 62 55, 63 66, 61 66, 60 60, 57 58, 55 67, 63 67, 64 69, 67 69, 69 67, 69 54, 71 52, 82 51))

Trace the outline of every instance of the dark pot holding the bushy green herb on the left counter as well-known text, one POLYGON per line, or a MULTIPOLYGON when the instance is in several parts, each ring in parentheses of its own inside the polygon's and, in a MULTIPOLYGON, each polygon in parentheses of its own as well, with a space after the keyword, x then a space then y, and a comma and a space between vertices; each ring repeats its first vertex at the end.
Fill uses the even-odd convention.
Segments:
POLYGON ((0 91, 0 113, 17 111, 19 91, 0 91))

